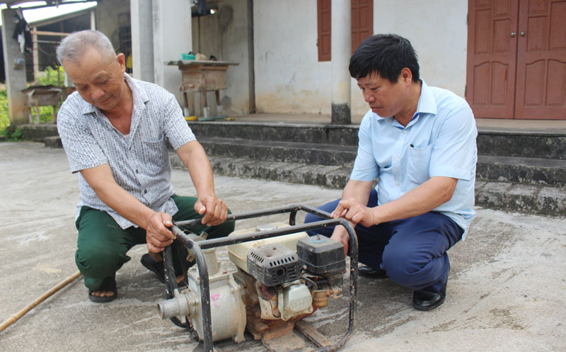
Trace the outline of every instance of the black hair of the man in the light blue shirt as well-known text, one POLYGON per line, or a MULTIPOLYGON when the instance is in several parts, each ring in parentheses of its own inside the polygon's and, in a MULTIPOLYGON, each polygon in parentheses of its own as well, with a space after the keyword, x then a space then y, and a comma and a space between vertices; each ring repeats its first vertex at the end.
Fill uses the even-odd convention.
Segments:
POLYGON ((350 58, 350 76, 360 79, 379 74, 397 83, 401 69, 407 67, 412 81, 419 81, 419 62, 411 42, 396 34, 376 34, 364 39, 350 58))

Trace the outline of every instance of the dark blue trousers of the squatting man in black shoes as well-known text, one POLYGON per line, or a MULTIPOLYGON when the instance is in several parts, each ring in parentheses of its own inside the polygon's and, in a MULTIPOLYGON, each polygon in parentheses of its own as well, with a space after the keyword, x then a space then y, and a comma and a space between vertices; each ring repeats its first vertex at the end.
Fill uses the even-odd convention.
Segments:
MULTIPOLYGON (((340 199, 326 203, 320 210, 332 212, 340 199)), ((368 207, 377 206, 377 192, 369 195, 368 207)), ((308 214, 307 222, 321 220, 308 214)), ((310 236, 330 237, 334 227, 315 229, 310 236)), ((412 290, 439 292, 450 271, 446 251, 462 238, 463 229, 439 212, 355 228, 359 244, 359 262, 371 268, 381 268, 399 285, 412 290)), ((349 249, 350 251, 350 249, 349 249)))

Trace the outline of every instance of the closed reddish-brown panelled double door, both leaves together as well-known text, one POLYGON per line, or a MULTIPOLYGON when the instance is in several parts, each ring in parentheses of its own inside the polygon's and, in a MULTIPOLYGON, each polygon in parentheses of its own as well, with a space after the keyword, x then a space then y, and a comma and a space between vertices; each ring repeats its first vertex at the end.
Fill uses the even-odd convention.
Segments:
POLYGON ((466 98, 477 118, 566 120, 566 0, 468 1, 466 98))

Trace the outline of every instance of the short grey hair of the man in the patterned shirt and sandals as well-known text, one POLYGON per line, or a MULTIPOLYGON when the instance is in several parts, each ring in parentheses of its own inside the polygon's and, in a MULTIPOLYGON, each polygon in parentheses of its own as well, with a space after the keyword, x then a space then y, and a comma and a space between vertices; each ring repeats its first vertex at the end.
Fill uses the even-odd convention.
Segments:
POLYGON ((98 30, 81 30, 65 37, 57 47, 57 60, 79 63, 88 47, 98 50, 103 57, 116 55, 112 43, 104 33, 98 30))

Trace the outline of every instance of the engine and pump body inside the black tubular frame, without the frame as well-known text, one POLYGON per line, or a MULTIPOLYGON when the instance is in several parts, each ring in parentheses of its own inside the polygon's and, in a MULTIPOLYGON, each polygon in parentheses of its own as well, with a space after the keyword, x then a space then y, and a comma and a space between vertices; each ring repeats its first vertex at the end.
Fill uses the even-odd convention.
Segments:
MULTIPOLYGON (((289 225, 277 223, 256 230, 284 227, 289 225)), ((241 230, 231 237, 248 232, 241 230)), ((201 240, 194 234, 190 237, 196 243, 201 240)), ((201 296, 202 278, 193 266, 187 271, 187 288, 175 289, 174 297, 158 303, 162 319, 188 319, 204 340, 202 307, 207 302, 212 341, 232 338, 241 342, 246 328, 259 340, 274 331, 293 329, 294 322, 326 307, 330 297, 342 293, 344 248, 333 239, 299 232, 226 248, 236 270, 221 268, 216 248, 202 249, 209 274, 209 302, 201 296)))

